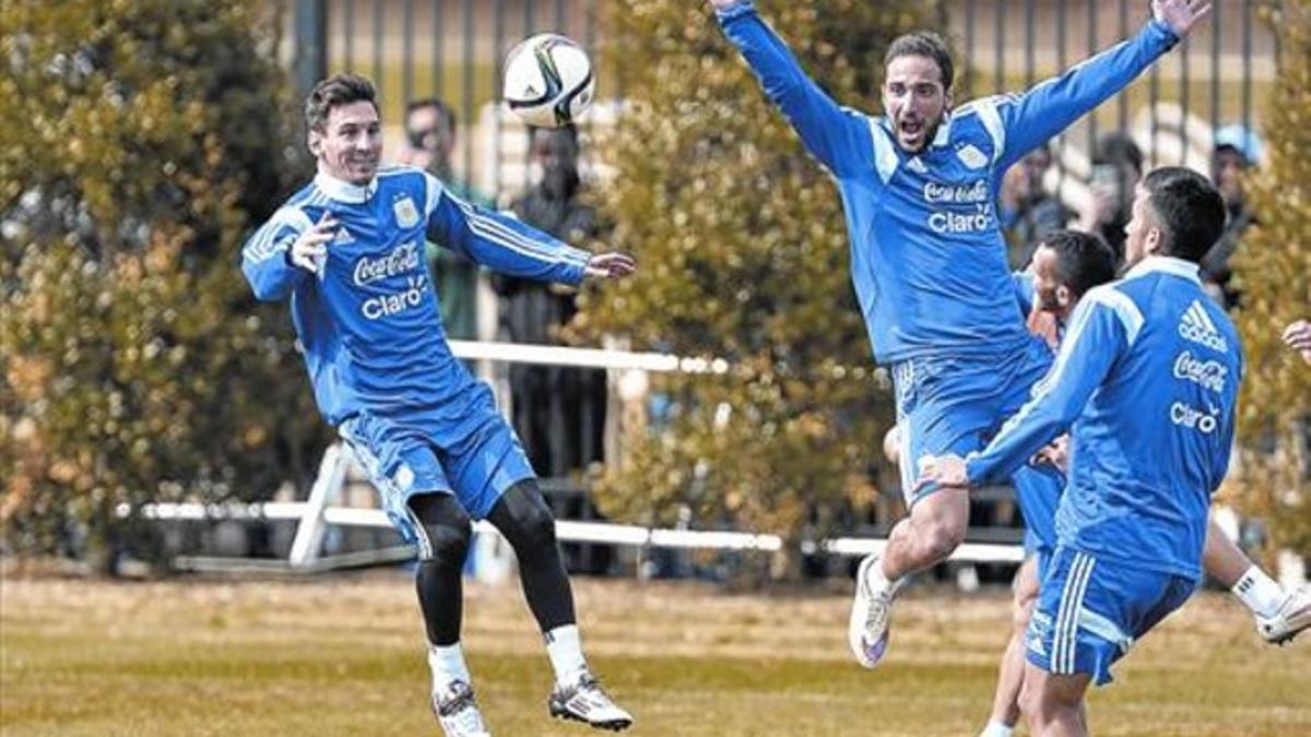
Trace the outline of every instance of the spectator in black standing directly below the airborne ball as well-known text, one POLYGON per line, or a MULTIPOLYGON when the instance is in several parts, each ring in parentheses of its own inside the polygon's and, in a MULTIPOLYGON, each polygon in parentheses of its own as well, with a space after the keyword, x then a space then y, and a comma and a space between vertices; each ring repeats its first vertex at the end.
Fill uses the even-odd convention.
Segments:
MULTIPOLYGON (((541 180, 510 209, 556 237, 581 244, 598 232, 595 211, 583 205, 578 174, 578 131, 535 129, 532 157, 541 180)), ((574 294, 513 277, 493 277, 501 295, 506 340, 556 344, 556 332, 577 312, 574 294)), ((602 458, 606 421, 606 372, 561 366, 510 366, 514 426, 534 468, 564 476, 602 458)))

